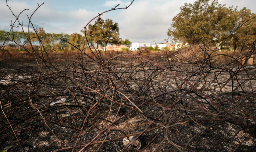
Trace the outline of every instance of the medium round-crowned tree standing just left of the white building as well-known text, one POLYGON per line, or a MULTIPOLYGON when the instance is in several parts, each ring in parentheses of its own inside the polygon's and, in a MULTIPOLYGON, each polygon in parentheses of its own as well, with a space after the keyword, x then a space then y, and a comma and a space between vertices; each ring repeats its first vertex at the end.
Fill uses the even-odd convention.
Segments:
POLYGON ((118 23, 114 23, 111 19, 95 21, 94 26, 89 24, 88 31, 91 33, 89 40, 93 43, 106 47, 108 44, 119 44, 119 27, 118 23))

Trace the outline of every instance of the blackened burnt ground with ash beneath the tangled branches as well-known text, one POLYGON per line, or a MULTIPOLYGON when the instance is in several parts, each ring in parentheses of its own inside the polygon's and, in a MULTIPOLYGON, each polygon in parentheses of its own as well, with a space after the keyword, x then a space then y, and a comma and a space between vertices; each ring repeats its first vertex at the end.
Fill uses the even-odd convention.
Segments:
MULTIPOLYGON (((76 147, 75 151, 79 151, 106 126, 129 112, 131 109, 127 106, 134 107, 120 93, 119 95, 111 94, 113 88, 108 88, 111 83, 105 81, 106 76, 101 74, 104 72, 99 70, 98 63, 77 52, 49 53, 51 63, 47 64, 41 64, 41 60, 38 58, 36 60, 28 53, 9 52, 1 55, 2 110, 11 123, 21 146, 1 112, 0 151, 6 149, 20 151, 21 147, 25 151, 71 151, 79 136, 84 118, 88 112, 90 113, 91 105, 96 103, 76 144, 79 147, 76 147), (44 72, 40 73, 40 69, 44 72), (59 72, 56 73, 56 71, 59 72), (83 76, 84 73, 90 73, 91 77, 83 76), (79 88, 75 78, 83 84, 85 90, 82 87, 79 88), (91 88, 94 87, 94 90, 99 90, 101 94, 104 93, 105 98, 96 95, 95 91, 89 92, 90 90, 86 88, 87 84, 90 84, 91 88), (60 98, 66 98, 67 102, 57 106, 49 105, 60 98), (127 106, 110 102, 109 98, 127 106)), ((188 78, 187 75, 190 75, 190 71, 195 68, 190 64, 181 64, 180 59, 178 62, 171 55, 165 56, 159 53, 142 55, 158 61, 165 67, 172 66, 171 69, 183 78, 188 78)), ((231 79, 227 81, 230 78, 230 71, 217 73, 219 74, 217 80, 215 79, 216 71, 205 73, 203 76, 199 72, 190 79, 190 83, 195 84, 196 88, 218 102, 224 111, 212 104, 210 100, 196 95, 198 92, 184 93, 190 89, 189 86, 181 85, 183 81, 174 79, 172 74, 153 64, 128 56, 115 58, 111 65, 110 70, 130 87, 119 84, 118 80, 114 79, 115 76, 110 76, 117 90, 128 96, 137 106, 166 91, 182 88, 185 91, 171 92, 142 105, 139 109, 143 114, 135 111, 120 119, 112 126, 111 131, 101 134, 84 151, 97 149, 98 151, 122 151, 125 148, 123 136, 139 134, 144 130, 147 131, 140 136, 140 139, 142 148, 147 147, 145 152, 153 151, 155 148, 157 148, 156 151, 256 151, 254 65, 244 66, 243 69, 246 71, 236 75, 236 80, 239 81, 231 82, 231 79), (250 81, 246 81, 249 78, 250 81), (233 83, 233 89, 231 83, 233 83), (149 85, 152 86, 148 87, 149 85), (235 89, 239 85, 243 87, 235 89), (162 112, 165 113, 157 118, 162 112), (156 119, 155 122, 153 122, 154 119, 156 119), (153 124, 146 129, 151 123, 153 124), (107 141, 101 145, 106 135, 107 141), (157 137, 151 143, 156 135, 157 137)), ((239 67, 232 66, 232 68, 239 67)), ((207 71, 207 68, 204 70, 207 71)), ((231 71, 235 70, 231 69, 231 71)))

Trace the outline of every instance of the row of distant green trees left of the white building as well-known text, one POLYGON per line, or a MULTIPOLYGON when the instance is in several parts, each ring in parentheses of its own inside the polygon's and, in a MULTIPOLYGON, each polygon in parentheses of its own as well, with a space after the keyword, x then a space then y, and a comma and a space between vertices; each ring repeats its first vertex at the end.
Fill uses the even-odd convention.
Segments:
MULTIPOLYGON (((128 39, 122 40, 122 38, 119 37, 118 23, 114 23, 111 19, 106 19, 105 21, 101 20, 100 24, 90 24, 88 29, 89 34, 87 34, 87 38, 92 45, 98 45, 99 47, 106 47, 109 44, 126 46, 131 45, 131 42, 128 39)), ((9 32, 0 30, 0 43, 3 44, 3 42, 9 35, 5 42, 5 46, 7 45, 12 48, 18 47, 19 50, 20 46, 17 44, 20 44, 21 46, 23 46, 24 44, 26 45, 28 43, 27 38, 30 39, 33 45, 43 44, 45 49, 74 50, 75 47, 80 48, 84 47, 87 44, 84 30, 81 30, 81 33, 82 34, 46 33, 44 28, 39 27, 35 28, 34 32, 30 31, 29 33, 24 33, 22 31, 12 31, 9 35, 9 32)))

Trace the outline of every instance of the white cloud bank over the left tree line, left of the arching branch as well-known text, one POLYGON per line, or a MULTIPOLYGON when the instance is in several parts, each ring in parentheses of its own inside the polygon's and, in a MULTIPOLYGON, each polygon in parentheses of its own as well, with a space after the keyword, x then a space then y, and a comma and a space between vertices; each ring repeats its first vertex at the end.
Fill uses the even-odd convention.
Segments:
MULTIPOLYGON (((5 4, 6 5, 6 4, 5 4)), ((15 20, 15 17, 12 16, 12 13, 5 6, 3 2, 0 2, 0 30, 10 30, 11 20, 15 20)), ((24 28, 28 26, 27 15, 30 15, 37 8, 36 5, 30 5, 26 2, 17 2, 10 1, 8 5, 11 7, 14 14, 18 15, 24 8, 29 9, 29 11, 24 12, 20 16, 20 21, 23 21, 24 28), (22 10, 21 10, 22 9, 22 10)), ((88 11, 86 9, 78 9, 67 12, 57 11, 49 6, 48 4, 42 5, 32 16, 31 22, 35 27, 43 27, 48 33, 80 33, 80 30, 90 21, 92 18, 97 16, 97 12, 88 11)), ((17 26, 18 24, 16 24, 17 26)), ((25 28, 28 29, 28 28, 25 28)), ((20 30, 17 29, 17 30, 20 30)), ((30 30, 31 24, 30 24, 30 30)))

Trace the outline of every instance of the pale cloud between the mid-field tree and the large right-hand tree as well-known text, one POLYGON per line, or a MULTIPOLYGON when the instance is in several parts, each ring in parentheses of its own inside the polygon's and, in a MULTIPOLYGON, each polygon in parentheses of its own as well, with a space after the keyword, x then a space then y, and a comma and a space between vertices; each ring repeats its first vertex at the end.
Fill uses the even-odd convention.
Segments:
POLYGON ((161 42, 167 39, 172 18, 179 13, 184 0, 141 0, 117 16, 120 36, 133 42, 161 42))

